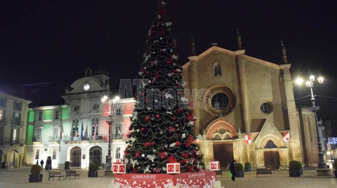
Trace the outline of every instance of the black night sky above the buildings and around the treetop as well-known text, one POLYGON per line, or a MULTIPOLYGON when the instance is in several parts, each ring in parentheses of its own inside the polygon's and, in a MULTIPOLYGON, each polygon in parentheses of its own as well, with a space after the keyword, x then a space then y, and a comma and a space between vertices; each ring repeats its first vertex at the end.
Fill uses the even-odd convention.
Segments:
MULTIPOLYGON (((0 89, 10 92, 22 90, 20 86, 25 84, 52 82, 25 87, 30 93, 26 97, 42 105, 57 101, 65 87, 84 76, 87 67, 107 70, 115 86, 121 78, 135 78, 156 2, 0 2, 0 89)), ((212 42, 234 51, 238 28, 247 55, 280 64, 283 40, 293 77, 304 76, 308 67, 317 70, 326 78, 324 85, 316 88, 317 94, 337 97, 333 1, 166 3, 181 64, 187 62, 190 35, 196 41, 197 54, 212 42)), ((294 90, 295 98, 309 95, 305 86, 294 90)), ((305 98, 300 103, 309 105, 309 101, 305 98)), ((322 108, 328 109, 328 104, 336 101, 322 98, 322 108)))

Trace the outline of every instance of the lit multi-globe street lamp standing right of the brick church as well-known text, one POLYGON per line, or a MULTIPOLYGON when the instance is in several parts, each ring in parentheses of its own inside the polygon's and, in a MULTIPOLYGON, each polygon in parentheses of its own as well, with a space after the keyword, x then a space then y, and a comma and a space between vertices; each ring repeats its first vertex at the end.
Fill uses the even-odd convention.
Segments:
MULTIPOLYGON (((302 82, 300 80, 302 80, 302 82, 303 82, 302 78, 296 79, 296 83, 298 85, 302 84, 302 82)), ((323 77, 319 77, 317 80, 318 80, 318 83, 322 84, 324 78, 323 77)), ((314 75, 310 75, 309 76, 309 80, 307 80, 305 82, 305 86, 307 86, 308 88, 310 88, 310 92, 311 92, 311 104, 312 104, 312 107, 310 107, 309 109, 312 112, 315 113, 315 123, 316 123, 317 140, 318 140, 318 143, 317 143, 317 145, 318 145, 318 156, 319 156, 318 168, 319 169, 326 169, 327 166, 326 166, 326 163, 325 163, 325 160, 324 160, 324 153, 323 153, 323 148, 322 148, 322 143, 321 143, 321 140, 323 140, 323 138, 320 137, 319 127, 318 127, 318 122, 317 122, 317 111, 320 109, 320 107, 316 106, 316 104, 315 104, 315 95, 314 95, 314 90, 312 89, 312 88, 314 88, 314 81, 315 81, 315 76, 314 75)))

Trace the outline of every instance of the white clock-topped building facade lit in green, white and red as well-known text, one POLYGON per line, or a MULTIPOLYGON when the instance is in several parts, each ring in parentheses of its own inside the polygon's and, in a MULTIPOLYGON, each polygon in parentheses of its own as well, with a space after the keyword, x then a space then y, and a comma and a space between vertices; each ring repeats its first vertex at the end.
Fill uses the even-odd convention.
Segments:
MULTIPOLYGON (((29 109, 26 162, 33 164, 51 156, 53 168, 62 168, 65 161, 69 161, 71 167, 87 168, 92 162, 103 167, 108 155, 108 124, 105 121, 109 107, 101 98, 110 93, 108 83, 107 73, 88 70, 84 78, 66 89, 62 96, 65 104, 29 109)), ((121 99, 112 108, 113 161, 123 157, 133 106, 134 99, 121 99)))

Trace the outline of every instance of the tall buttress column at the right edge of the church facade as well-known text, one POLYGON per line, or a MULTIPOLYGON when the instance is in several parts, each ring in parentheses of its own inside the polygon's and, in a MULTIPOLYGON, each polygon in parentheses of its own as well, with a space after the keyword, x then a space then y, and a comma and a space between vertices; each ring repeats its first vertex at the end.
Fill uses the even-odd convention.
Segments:
POLYGON ((288 121, 290 126, 292 159, 302 162, 300 127, 298 124, 298 117, 294 100, 293 82, 290 74, 291 64, 283 64, 281 65, 281 67, 283 69, 284 89, 286 95, 285 98, 288 110, 288 121))

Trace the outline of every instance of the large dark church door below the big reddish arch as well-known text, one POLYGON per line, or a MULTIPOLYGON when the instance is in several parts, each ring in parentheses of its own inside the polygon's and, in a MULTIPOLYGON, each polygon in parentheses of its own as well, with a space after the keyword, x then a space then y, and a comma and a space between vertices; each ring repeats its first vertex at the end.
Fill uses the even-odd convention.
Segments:
POLYGON ((213 143, 213 156, 220 161, 220 168, 226 170, 229 163, 234 160, 232 143, 213 143))

